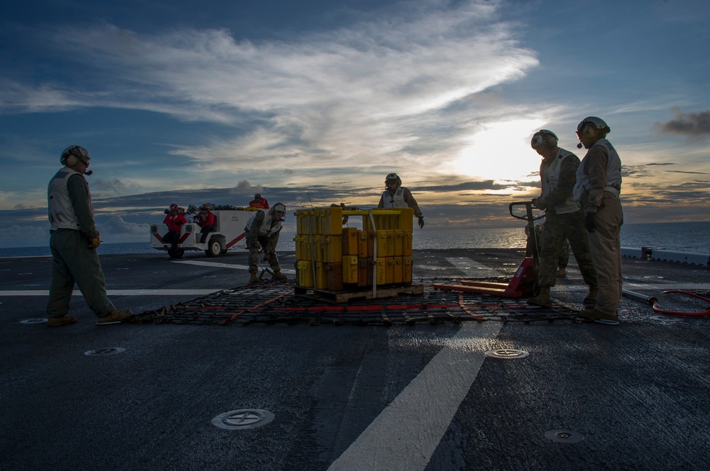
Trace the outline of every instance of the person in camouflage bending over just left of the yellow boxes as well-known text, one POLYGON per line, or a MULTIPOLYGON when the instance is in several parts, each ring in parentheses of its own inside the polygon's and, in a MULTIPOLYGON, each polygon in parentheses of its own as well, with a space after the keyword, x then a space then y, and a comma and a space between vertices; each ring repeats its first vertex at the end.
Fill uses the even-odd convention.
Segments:
POLYGON ((271 279, 287 279, 281 272, 276 257, 276 244, 278 244, 278 233, 282 226, 281 221, 286 216, 286 206, 283 203, 274 204, 267 211, 260 209, 254 211, 253 216, 246 223, 244 232, 246 233, 246 247, 249 248, 249 282, 259 281, 258 272, 258 252, 263 248, 263 259, 268 262, 273 270, 271 279))

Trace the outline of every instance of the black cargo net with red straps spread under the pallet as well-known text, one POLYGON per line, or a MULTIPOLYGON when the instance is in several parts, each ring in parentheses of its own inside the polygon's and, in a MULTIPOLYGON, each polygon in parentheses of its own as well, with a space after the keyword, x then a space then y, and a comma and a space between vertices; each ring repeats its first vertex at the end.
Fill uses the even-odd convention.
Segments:
POLYGON ((334 304, 327 299, 295 293, 293 282, 249 284, 225 289, 184 303, 136 314, 131 323, 244 325, 286 323, 335 326, 413 326, 461 322, 572 321, 572 308, 530 306, 526 298, 507 299, 486 294, 442 291, 432 283, 422 294, 334 304))

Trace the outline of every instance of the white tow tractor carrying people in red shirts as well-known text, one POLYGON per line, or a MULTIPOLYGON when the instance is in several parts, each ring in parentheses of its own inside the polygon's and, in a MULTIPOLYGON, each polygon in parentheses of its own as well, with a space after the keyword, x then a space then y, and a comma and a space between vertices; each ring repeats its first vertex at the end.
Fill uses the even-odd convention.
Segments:
POLYGON ((217 219, 217 227, 207 235, 207 242, 200 243, 202 234, 196 222, 199 206, 190 204, 187 211, 183 211, 187 224, 180 227, 178 249, 173 250, 171 244, 163 240, 163 236, 168 233, 168 226, 163 223, 151 224, 151 247, 155 250, 165 250, 170 258, 182 257, 185 250, 204 250, 207 257, 219 257, 231 248, 246 248, 244 226, 258 209, 214 205, 208 207, 217 219))

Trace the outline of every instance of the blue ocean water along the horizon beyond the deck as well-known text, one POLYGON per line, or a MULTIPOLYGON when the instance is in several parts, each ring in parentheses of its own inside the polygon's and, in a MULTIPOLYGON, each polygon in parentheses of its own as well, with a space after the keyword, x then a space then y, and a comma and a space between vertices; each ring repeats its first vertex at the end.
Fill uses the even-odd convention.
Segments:
MULTIPOLYGON (((295 233, 284 230, 278 250, 295 250, 295 233)), ((103 243, 100 255, 160 253, 146 242, 103 243)), ((621 245, 628 248, 663 248, 686 253, 707 254, 710 250, 710 221, 698 223, 625 224, 621 227, 621 245)), ((418 229, 415 228, 413 248, 524 248, 525 230, 520 228, 481 229, 418 229)), ((50 255, 48 246, 0 248, 0 257, 50 255)))

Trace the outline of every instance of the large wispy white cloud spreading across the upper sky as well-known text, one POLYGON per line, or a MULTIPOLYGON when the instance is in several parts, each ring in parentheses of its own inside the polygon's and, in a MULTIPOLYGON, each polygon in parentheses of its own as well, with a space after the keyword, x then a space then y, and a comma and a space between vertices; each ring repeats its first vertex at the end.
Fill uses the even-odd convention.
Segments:
MULTIPOLYGON (((106 106, 166 113, 239 128, 230 138, 178 145, 174 155, 204 170, 343 169, 383 160, 420 169, 423 157, 454 158, 461 138, 491 118, 472 97, 538 65, 518 45, 496 4, 426 1, 401 11, 288 40, 236 40, 224 29, 138 33, 113 25, 70 38, 49 34, 60 57, 91 71, 82 83, 53 82, 52 106, 106 106), (81 90, 81 92, 77 92, 81 90), (454 106, 457 104, 457 106, 454 106)), ((57 79, 58 80, 58 79, 57 79)), ((27 110, 46 84, 18 95, 27 110)), ((495 93, 489 95, 489 99, 495 93)), ((496 118, 506 106, 496 111, 496 118)), ((520 106, 510 107, 520 113, 520 106)), ((275 176, 274 176, 275 177, 275 176)), ((251 178, 251 177, 250 177, 251 178)))

